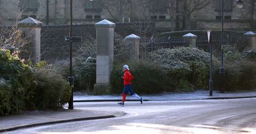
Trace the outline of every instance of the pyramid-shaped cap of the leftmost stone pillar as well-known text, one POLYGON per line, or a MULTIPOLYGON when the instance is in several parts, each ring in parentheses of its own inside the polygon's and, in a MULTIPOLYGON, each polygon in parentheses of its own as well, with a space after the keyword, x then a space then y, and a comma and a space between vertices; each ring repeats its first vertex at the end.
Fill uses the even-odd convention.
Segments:
POLYGON ((18 22, 19 27, 42 27, 42 24, 42 22, 31 17, 28 17, 27 19, 18 22))

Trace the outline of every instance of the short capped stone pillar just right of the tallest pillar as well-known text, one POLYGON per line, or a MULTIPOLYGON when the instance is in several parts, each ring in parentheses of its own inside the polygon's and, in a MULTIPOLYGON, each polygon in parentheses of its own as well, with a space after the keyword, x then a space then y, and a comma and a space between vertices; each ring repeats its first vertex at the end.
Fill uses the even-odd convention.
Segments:
POLYGON ((131 34, 125 37, 125 41, 129 45, 129 59, 130 61, 136 61, 140 59, 140 36, 131 34))

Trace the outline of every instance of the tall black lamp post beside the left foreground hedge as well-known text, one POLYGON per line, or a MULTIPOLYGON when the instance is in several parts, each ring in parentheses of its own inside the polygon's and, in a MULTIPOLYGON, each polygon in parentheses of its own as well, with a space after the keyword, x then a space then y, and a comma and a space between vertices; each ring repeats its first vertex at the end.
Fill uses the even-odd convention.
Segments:
MULTIPOLYGON (((69 85, 73 86, 74 85, 74 77, 72 76, 72 8, 73 4, 72 4, 72 0, 70 0, 70 27, 69 27, 69 38, 70 38, 70 68, 69 68, 69 77, 68 77, 68 81, 69 81, 69 85)), ((72 88, 72 93, 70 96, 70 100, 68 101, 68 109, 74 109, 74 105, 73 105, 73 88, 72 88)))

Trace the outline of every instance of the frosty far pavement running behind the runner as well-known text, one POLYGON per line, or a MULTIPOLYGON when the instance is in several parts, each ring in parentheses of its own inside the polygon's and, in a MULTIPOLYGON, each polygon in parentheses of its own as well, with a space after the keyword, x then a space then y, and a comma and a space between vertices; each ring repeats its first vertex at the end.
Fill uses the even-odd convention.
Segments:
MULTIPOLYGON (((232 98, 256 98, 255 92, 238 92, 238 93, 218 93, 214 92, 213 96, 209 96, 208 91, 196 91, 191 93, 164 93, 156 95, 141 95, 144 100, 148 101, 172 101, 172 100, 204 100, 204 99, 232 99, 232 98)), ((120 101, 122 95, 105 95, 91 96, 86 94, 75 93, 74 101, 120 101)), ((127 96, 127 100, 134 100, 133 97, 127 96)))

